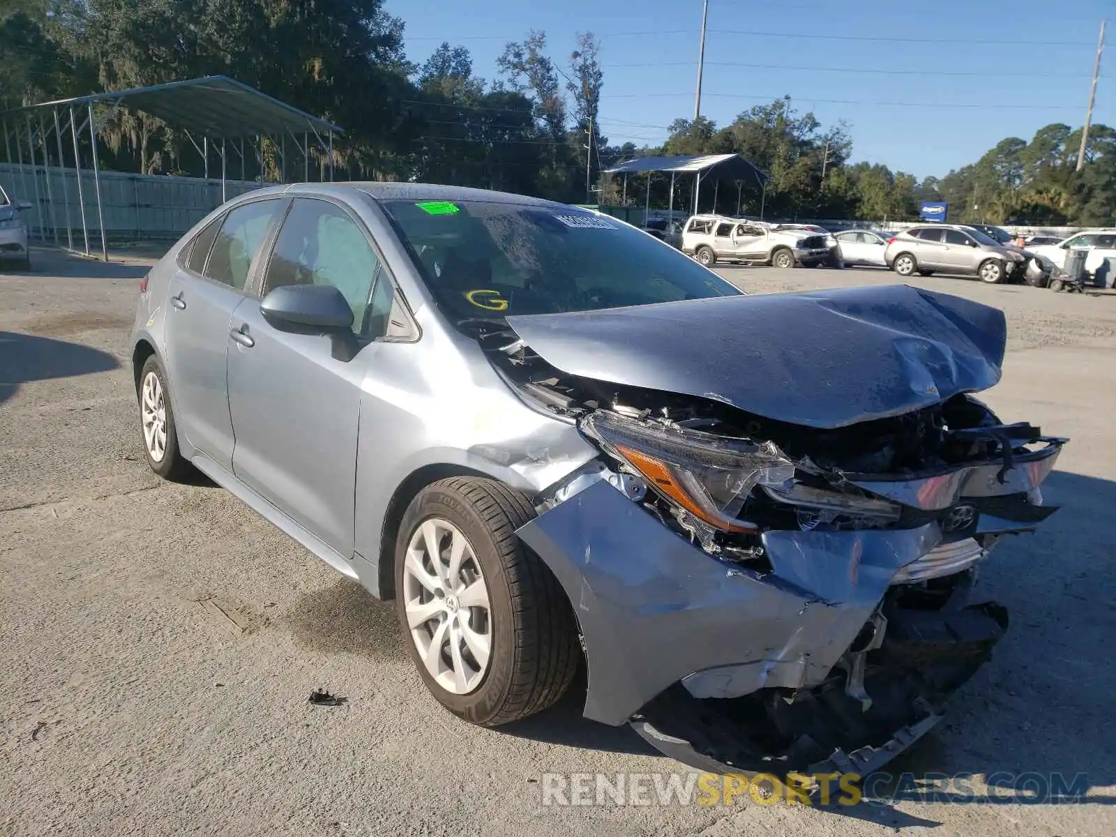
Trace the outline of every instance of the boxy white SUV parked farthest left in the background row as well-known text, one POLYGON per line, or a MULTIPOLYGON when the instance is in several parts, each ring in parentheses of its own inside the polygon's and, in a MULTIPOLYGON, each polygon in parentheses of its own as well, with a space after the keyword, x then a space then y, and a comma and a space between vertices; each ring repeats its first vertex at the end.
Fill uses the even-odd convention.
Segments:
POLYGON ((760 262, 777 268, 822 264, 829 257, 826 235, 781 229, 761 221, 724 215, 694 215, 682 233, 682 252, 705 267, 718 261, 760 262))

